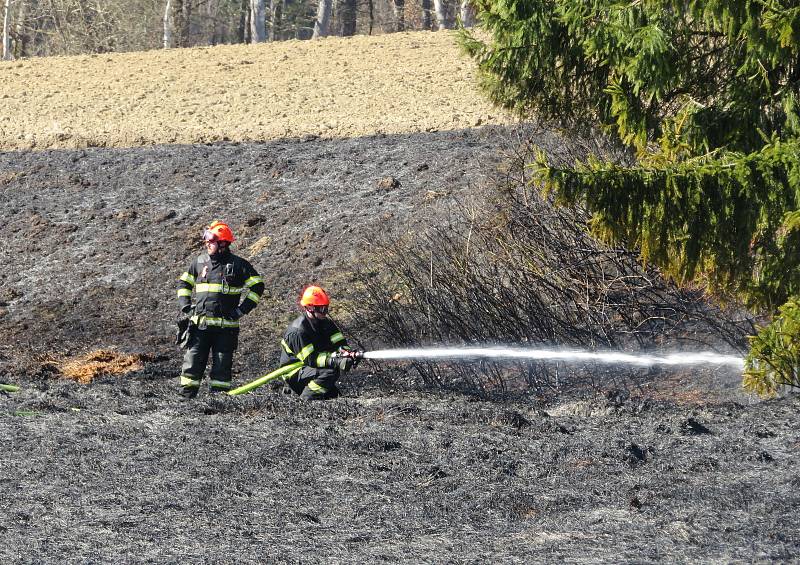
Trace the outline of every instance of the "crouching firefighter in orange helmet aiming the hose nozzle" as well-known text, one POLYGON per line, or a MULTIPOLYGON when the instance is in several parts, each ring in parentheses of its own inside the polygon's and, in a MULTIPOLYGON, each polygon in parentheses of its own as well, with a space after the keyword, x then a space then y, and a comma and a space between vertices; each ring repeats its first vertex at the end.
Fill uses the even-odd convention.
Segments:
POLYGON ((300 297, 303 313, 294 320, 281 340, 281 367, 302 361, 303 366, 284 377, 286 385, 303 400, 326 400, 339 396, 336 381, 353 367, 360 352, 328 318, 330 299, 318 286, 309 286, 300 297))

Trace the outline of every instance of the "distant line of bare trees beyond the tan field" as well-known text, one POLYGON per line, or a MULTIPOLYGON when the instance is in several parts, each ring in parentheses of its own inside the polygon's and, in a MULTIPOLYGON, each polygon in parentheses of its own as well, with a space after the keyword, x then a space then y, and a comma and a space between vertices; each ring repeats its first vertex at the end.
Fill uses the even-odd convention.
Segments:
POLYGON ((469 26, 467 0, 2 0, 3 59, 469 26))

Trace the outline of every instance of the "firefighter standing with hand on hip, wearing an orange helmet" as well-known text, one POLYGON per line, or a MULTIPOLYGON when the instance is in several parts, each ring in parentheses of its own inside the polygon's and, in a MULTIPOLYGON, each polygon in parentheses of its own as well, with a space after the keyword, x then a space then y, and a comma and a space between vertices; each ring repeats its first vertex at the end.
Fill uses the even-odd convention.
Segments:
POLYGON ((227 224, 213 222, 203 232, 206 252, 192 261, 178 283, 178 304, 189 318, 190 332, 180 376, 185 398, 197 396, 209 353, 209 389, 230 390, 239 319, 256 307, 264 292, 264 282, 253 266, 231 253, 233 241, 227 224))

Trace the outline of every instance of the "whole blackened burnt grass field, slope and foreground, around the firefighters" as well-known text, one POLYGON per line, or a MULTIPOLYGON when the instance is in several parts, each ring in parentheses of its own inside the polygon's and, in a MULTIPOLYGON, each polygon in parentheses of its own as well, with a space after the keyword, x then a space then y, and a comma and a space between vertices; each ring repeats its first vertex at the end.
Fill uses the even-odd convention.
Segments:
POLYGON ((175 280, 211 219, 266 279, 243 384, 275 366, 303 284, 346 303, 378 238, 479 194, 514 139, 1 153, 0 382, 21 389, 0 395, 0 562, 798 561, 800 400, 735 374, 543 403, 365 363, 328 403, 179 402, 175 280))

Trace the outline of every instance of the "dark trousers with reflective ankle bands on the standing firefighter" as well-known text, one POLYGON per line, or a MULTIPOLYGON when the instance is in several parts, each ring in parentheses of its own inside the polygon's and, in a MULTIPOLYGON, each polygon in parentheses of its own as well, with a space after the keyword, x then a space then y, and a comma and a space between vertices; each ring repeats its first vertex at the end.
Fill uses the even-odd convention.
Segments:
POLYGON ((239 345, 239 329, 231 328, 193 328, 189 347, 183 356, 181 367, 181 388, 186 396, 194 396, 200 388, 211 354, 211 373, 208 386, 212 391, 225 391, 231 388, 231 369, 233 352, 239 345))

